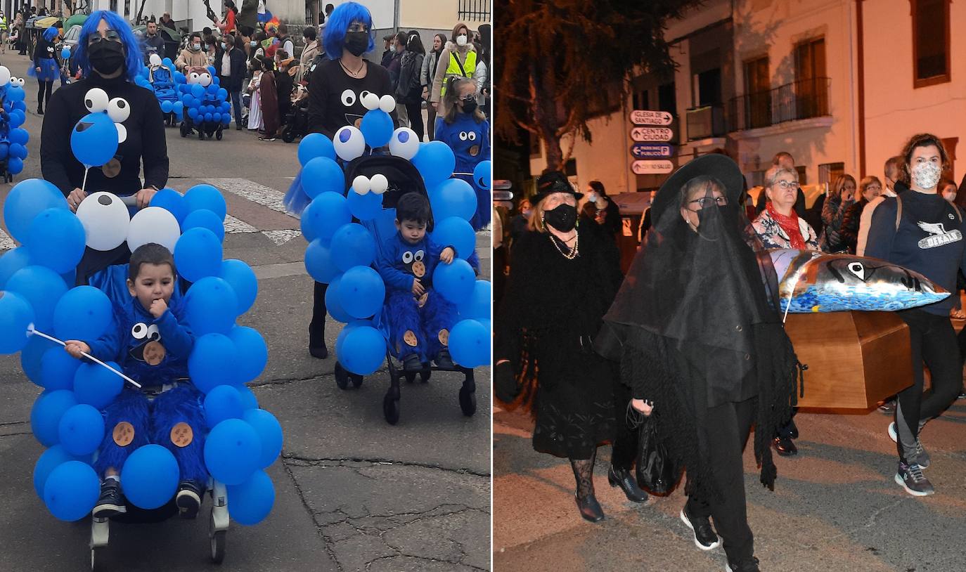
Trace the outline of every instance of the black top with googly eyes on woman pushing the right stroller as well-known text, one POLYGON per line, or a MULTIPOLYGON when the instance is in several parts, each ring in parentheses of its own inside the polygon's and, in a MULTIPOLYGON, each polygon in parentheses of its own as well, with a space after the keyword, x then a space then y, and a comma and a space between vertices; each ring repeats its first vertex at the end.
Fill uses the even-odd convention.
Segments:
MULTIPOLYGON (((362 116, 368 111, 362 105, 362 94, 372 92, 379 97, 392 95, 389 72, 378 64, 363 60, 367 67, 365 77, 351 77, 338 60, 316 60, 314 70, 310 70, 308 87, 308 125, 309 131, 335 136, 335 131, 347 125, 359 126, 362 116)), ((393 110, 393 123, 396 112, 393 110)))

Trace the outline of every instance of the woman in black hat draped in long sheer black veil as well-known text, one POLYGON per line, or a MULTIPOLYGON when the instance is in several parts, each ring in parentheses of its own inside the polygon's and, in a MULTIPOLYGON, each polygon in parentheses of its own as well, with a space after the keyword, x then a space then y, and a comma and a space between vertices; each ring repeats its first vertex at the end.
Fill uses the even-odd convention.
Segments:
POLYGON ((761 482, 769 443, 794 401, 796 364, 781 325, 777 277, 740 202, 743 177, 723 155, 698 157, 658 191, 653 228, 598 335, 620 359, 632 406, 687 470, 681 520, 702 550, 724 538, 728 569, 758 570, 742 450, 752 424, 761 482))

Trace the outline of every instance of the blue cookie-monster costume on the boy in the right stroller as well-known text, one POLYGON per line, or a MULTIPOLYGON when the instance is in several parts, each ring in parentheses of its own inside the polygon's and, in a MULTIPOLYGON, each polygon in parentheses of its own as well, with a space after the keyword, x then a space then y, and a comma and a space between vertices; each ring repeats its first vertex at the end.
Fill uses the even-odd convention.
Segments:
POLYGON ((386 286, 389 351, 397 359, 416 354, 427 362, 447 346, 449 330, 457 321, 456 306, 433 290, 430 281, 445 248, 429 236, 416 244, 407 243, 397 232, 379 253, 376 264, 386 286), (419 278, 426 288, 421 302, 412 295, 413 278, 419 278), (413 335, 407 336, 408 332, 413 335), (440 332, 445 333, 440 336, 440 332))

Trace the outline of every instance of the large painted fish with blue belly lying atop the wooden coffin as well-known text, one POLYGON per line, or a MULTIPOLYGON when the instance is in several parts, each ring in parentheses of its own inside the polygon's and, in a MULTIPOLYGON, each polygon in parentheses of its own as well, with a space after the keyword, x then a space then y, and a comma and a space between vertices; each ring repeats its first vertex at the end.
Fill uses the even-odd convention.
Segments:
POLYGON ((791 248, 768 253, 779 275, 782 312, 894 312, 950 296, 923 274, 876 258, 791 248))

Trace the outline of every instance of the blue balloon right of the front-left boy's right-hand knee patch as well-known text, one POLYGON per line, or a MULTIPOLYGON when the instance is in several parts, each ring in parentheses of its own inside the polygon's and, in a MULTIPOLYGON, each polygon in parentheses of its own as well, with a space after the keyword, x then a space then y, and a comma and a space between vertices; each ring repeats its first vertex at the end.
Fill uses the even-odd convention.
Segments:
POLYGON ((225 419, 205 440, 205 465, 215 480, 238 485, 258 470, 262 442, 251 425, 241 419, 225 419))

